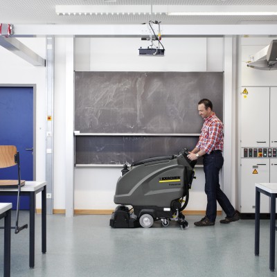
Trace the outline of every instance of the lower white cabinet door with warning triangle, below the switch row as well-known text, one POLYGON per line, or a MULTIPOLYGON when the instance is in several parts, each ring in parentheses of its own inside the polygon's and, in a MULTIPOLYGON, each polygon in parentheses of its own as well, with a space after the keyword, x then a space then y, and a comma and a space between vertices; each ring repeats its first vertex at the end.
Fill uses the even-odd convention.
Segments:
MULTIPOLYGON (((255 183, 269 182, 269 159, 242 159, 239 186, 240 213, 255 213, 255 183)), ((260 213, 269 213, 269 197, 260 195, 260 213)))

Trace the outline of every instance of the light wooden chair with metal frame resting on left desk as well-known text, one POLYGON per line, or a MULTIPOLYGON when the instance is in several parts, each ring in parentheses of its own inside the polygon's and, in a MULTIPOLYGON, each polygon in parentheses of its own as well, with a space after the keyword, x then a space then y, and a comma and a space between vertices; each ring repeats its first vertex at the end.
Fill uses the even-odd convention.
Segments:
MULTIPOLYGON (((15 221, 15 233, 28 228, 28 224, 19 227, 19 203, 20 203, 20 190, 21 186, 24 186, 25 181, 21 180, 20 177, 20 161, 19 161, 19 152, 14 145, 0 145, 0 168, 9 168, 11 166, 17 166, 17 179, 15 180, 3 180, 0 179, 0 188, 17 188, 17 216, 15 221)), ((1 178, 1 175, 0 175, 1 178)))

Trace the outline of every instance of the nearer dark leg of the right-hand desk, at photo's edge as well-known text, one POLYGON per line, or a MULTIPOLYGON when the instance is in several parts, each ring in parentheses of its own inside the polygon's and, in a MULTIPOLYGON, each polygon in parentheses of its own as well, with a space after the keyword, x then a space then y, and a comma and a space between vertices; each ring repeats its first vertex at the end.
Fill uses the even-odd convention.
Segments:
POLYGON ((270 246, 269 246, 269 269, 275 269, 275 210, 276 210, 276 195, 271 194, 270 205, 270 246))

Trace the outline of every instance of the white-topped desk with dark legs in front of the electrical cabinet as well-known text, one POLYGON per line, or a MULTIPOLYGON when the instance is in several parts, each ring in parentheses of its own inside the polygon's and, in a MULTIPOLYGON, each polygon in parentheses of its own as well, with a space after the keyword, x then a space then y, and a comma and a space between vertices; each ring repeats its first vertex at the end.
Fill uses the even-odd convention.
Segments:
POLYGON ((270 197, 270 242, 269 242, 269 269, 275 269, 275 214, 277 183, 258 183, 256 186, 256 215, 255 215, 255 255, 260 252, 260 193, 270 197))

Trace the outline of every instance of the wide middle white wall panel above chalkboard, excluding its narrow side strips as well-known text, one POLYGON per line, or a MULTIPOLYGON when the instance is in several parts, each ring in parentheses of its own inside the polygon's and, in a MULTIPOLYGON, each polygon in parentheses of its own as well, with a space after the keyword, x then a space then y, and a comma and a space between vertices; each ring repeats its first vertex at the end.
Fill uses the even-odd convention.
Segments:
POLYGON ((139 38, 91 39, 91 71, 206 71, 206 38, 165 38, 164 57, 141 57, 139 38))

